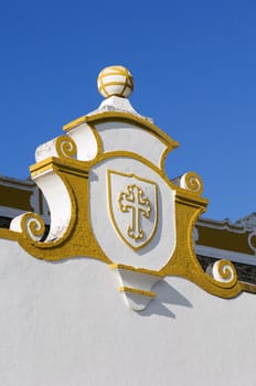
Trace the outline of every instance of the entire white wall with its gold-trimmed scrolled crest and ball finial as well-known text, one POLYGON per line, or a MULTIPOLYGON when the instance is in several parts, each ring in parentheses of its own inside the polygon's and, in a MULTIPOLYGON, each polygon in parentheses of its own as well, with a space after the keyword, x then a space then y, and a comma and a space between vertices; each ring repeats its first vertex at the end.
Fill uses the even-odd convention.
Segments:
POLYGON ((100 106, 35 151, 41 206, 0 228, 2 385, 254 385, 256 286, 232 250, 200 261, 202 180, 167 178, 179 143, 132 88, 100 72, 100 106))

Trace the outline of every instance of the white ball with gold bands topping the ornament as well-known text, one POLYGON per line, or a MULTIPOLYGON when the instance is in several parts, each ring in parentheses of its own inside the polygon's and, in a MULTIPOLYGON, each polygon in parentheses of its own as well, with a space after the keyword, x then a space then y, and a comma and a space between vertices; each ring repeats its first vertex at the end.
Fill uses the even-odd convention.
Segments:
POLYGON ((118 96, 127 98, 134 89, 134 78, 124 66, 110 66, 98 74, 98 92, 105 98, 118 96))

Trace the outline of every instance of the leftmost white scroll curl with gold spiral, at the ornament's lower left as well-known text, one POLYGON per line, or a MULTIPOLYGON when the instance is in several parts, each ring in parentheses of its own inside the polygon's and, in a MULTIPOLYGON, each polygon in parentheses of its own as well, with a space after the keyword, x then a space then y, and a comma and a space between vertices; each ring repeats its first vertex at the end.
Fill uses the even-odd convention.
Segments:
POLYGON ((44 235, 45 226, 42 217, 36 213, 26 212, 14 217, 10 225, 11 230, 22 233, 33 242, 40 242, 44 235))

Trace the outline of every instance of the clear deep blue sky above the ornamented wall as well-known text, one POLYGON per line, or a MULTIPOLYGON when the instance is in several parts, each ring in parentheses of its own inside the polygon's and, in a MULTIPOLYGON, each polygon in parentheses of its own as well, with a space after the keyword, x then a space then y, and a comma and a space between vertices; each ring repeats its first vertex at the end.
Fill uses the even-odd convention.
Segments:
POLYGON ((26 178, 38 144, 102 101, 113 64, 141 114, 180 142, 175 178, 198 172, 207 217, 256 211, 256 2, 9 1, 0 8, 0 174, 26 178))

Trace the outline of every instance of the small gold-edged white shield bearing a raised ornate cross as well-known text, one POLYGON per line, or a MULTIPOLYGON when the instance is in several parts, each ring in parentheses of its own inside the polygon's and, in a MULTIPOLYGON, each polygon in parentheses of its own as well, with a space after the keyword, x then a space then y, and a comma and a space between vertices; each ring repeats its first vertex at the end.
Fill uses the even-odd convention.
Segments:
POLYGON ((132 249, 146 246, 158 225, 158 186, 134 173, 108 170, 108 203, 113 225, 132 249))

